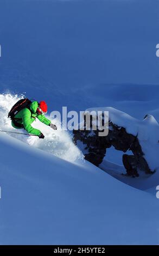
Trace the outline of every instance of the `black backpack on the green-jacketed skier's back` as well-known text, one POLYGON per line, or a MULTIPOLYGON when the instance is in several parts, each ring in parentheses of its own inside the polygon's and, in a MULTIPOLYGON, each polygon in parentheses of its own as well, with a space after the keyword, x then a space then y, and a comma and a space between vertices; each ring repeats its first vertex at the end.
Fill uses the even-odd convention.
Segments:
POLYGON ((14 119, 15 115, 21 111, 21 109, 27 107, 29 108, 29 105, 31 103, 31 100, 29 99, 22 99, 22 100, 18 100, 14 106, 12 106, 12 108, 10 109, 9 113, 8 113, 8 118, 10 117, 10 119, 14 119))

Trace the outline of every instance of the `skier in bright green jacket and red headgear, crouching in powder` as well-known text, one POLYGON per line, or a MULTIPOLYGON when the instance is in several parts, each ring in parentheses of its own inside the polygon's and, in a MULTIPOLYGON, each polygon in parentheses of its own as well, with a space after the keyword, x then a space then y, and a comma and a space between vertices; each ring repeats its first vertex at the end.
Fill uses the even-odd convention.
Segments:
MULTIPOLYGON (((14 113, 13 117, 11 117, 12 119, 11 125, 15 129, 23 128, 28 133, 31 133, 33 135, 38 136, 40 139, 43 139, 44 138, 43 133, 40 130, 35 129, 33 126, 31 126, 31 124, 35 121, 35 119, 38 118, 42 123, 49 125, 53 130, 57 130, 56 125, 52 124, 51 121, 44 116, 44 113, 47 113, 47 104, 45 101, 41 101, 40 103, 38 103, 37 101, 31 102, 28 99, 24 99, 23 102, 25 102, 25 100, 26 102, 28 101, 27 105, 24 105, 24 103, 23 105, 21 105, 19 103, 18 108, 20 108, 19 106, 26 106, 26 107, 24 108, 22 107, 20 111, 17 111, 17 113, 15 112, 16 114, 14 113)), ((13 112, 14 106, 12 107, 11 112, 13 112)), ((10 117, 10 113, 9 113, 9 117, 10 117)), ((34 137, 32 136, 32 138, 28 138, 27 143, 34 144, 35 138, 36 138, 35 136, 34 137)))

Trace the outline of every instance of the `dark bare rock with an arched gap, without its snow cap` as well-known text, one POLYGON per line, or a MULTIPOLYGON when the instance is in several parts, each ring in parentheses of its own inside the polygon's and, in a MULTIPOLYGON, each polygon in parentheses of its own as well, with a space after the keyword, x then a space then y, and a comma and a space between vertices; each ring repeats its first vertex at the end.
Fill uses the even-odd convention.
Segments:
POLYGON ((123 164, 128 175, 138 176, 139 170, 146 174, 152 173, 144 159, 144 153, 137 136, 126 132, 124 127, 113 124, 112 121, 109 121, 109 134, 107 136, 98 136, 98 129, 86 130, 86 122, 84 122, 84 130, 73 130, 73 134, 74 143, 82 150, 85 159, 96 166, 99 166, 103 161, 106 149, 113 146, 124 153, 128 150, 132 151, 132 155, 123 155, 123 164))

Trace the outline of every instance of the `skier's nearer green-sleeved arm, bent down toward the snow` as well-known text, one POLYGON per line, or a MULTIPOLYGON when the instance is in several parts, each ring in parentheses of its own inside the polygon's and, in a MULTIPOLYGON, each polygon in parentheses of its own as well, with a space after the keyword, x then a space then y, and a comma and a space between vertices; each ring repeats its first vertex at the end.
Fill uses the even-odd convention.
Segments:
POLYGON ((31 134, 37 135, 39 136, 41 131, 38 129, 35 129, 31 126, 31 113, 29 111, 29 109, 25 109, 25 113, 23 114, 23 125, 24 125, 24 129, 31 134))

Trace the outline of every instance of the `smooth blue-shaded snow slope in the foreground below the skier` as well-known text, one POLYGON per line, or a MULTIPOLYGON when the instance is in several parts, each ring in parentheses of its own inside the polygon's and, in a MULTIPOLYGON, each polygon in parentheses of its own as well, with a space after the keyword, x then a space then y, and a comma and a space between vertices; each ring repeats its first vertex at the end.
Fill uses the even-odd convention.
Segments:
POLYGON ((1 244, 158 244, 155 196, 91 163, 0 141, 1 244))

